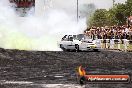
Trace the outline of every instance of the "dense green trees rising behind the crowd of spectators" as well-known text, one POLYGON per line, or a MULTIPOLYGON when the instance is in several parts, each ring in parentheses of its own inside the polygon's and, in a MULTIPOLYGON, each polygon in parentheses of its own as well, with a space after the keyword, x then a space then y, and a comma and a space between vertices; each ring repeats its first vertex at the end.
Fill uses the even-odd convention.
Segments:
POLYGON ((128 17, 132 16, 132 0, 125 3, 114 4, 109 10, 96 9, 87 23, 88 27, 125 25, 128 17))

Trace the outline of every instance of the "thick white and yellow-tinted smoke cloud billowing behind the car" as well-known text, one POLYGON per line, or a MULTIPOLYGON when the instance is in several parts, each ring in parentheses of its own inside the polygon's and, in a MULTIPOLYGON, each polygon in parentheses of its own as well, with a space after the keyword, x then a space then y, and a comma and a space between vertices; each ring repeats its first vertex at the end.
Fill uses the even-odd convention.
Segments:
POLYGON ((0 47, 20 50, 60 50, 57 42, 65 34, 83 33, 85 19, 79 23, 64 10, 48 9, 42 16, 18 17, 8 0, 0 0, 0 47))

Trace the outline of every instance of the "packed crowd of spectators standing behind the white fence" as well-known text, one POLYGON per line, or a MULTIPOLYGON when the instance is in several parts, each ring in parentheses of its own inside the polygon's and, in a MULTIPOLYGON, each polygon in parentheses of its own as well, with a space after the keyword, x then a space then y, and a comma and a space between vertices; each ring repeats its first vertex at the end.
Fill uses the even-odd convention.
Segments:
POLYGON ((105 26, 87 28, 85 34, 92 39, 128 39, 132 40, 132 27, 105 26))

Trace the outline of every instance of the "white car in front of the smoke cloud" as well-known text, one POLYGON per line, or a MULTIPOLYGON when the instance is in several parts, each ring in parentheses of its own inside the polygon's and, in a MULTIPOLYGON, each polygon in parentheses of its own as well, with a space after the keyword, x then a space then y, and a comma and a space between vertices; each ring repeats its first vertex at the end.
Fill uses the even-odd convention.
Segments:
POLYGON ((78 35, 65 35, 60 43, 59 47, 63 51, 87 51, 87 50, 94 50, 98 51, 99 47, 97 47, 96 41, 89 39, 84 34, 78 35))

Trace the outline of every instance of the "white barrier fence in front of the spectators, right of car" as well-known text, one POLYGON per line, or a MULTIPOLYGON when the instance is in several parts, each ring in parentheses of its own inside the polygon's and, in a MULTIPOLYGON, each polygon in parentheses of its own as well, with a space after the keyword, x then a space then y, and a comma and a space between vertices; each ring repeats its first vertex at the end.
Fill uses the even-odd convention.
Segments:
POLYGON ((98 39, 97 45, 102 49, 132 51, 132 40, 127 39, 98 39))

